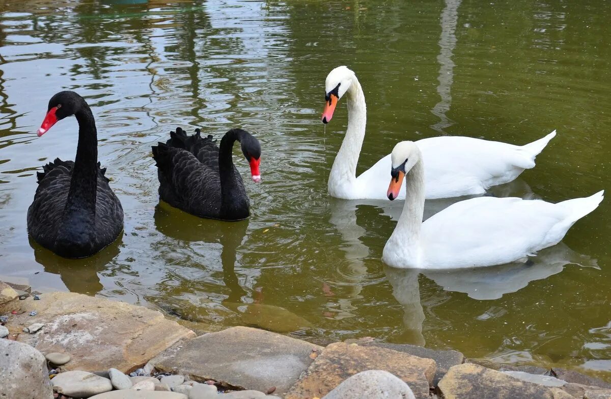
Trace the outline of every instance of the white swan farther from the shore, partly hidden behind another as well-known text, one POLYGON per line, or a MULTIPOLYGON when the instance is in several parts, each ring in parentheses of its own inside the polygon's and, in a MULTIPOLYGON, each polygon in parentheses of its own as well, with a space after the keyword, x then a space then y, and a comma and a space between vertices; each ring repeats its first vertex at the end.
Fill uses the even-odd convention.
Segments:
MULTIPOLYGON (((359 80, 348 67, 337 67, 327 76, 325 91, 322 117, 325 124, 331 121, 338 100, 344 94, 348 97, 348 128, 329 175, 329 195, 344 200, 386 199, 384 182, 390 168, 390 154, 356 177, 367 120, 365 95, 359 80)), ((525 146, 460 136, 418 140, 416 143, 426 160, 425 198, 478 195, 488 187, 510 182, 525 169, 535 166, 536 155, 555 135, 554 130, 525 146)), ((403 188, 400 195, 401 198, 405 195, 403 188)))

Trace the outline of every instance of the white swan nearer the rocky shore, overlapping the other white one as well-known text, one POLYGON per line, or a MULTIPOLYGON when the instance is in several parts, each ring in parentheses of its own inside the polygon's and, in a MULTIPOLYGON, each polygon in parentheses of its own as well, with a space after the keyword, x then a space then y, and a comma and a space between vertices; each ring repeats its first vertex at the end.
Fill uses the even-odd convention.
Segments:
POLYGON ((392 150, 388 198, 406 181, 407 196, 382 261, 392 267, 459 269, 509 263, 558 244, 579 218, 594 211, 604 192, 552 204, 522 198, 479 197, 452 204, 422 222, 424 166, 412 141, 392 150))

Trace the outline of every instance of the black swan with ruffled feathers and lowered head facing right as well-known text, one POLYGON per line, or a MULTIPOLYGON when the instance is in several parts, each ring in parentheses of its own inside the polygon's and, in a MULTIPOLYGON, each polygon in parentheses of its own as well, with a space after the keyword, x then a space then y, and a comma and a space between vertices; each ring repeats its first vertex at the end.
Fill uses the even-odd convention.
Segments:
POLYGON ((261 146, 251 133, 229 130, 218 147, 211 135, 202 138, 196 129, 194 135, 187 136, 179 127, 170 132, 165 144, 153 146, 161 199, 199 217, 246 219, 250 214, 248 196, 232 160, 236 140, 251 165, 252 180, 260 182, 261 146))

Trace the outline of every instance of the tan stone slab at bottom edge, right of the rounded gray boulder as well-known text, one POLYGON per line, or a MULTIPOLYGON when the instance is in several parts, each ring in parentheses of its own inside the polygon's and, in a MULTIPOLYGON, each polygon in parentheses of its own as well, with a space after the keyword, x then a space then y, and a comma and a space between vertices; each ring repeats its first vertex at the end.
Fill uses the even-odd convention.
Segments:
POLYGON ((558 387, 521 381, 473 363, 450 367, 437 387, 445 399, 574 399, 558 387))

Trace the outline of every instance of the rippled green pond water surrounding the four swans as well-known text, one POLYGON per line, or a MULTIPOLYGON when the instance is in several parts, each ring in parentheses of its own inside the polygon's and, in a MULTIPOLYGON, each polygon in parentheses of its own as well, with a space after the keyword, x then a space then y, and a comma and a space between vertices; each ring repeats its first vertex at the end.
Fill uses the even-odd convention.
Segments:
MULTIPOLYGON (((609 189, 611 5, 411 3, 2 2, 0 275, 145 304, 203 329, 246 324, 320 343, 371 336, 611 380, 611 201, 532 264, 389 269, 382 248, 403 204, 329 198, 345 100, 326 129, 320 122, 324 79, 345 64, 369 111, 358 173, 400 140, 525 144, 557 129, 536 168, 492 191, 562 201, 609 189), (35 172, 76 151, 74 118, 35 135, 61 89, 92 107, 100 162, 125 209, 120 241, 77 261, 26 231, 35 172), (263 182, 245 179, 249 220, 159 203, 150 146, 177 126, 257 135, 263 182)), ((426 214, 449 203, 429 201, 426 214)))

